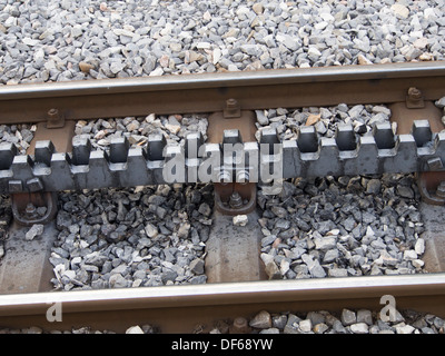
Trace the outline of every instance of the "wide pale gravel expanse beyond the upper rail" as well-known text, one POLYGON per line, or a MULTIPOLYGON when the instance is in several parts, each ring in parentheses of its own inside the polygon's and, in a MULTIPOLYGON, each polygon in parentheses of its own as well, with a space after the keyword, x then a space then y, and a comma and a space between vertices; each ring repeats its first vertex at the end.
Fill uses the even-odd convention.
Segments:
POLYGON ((0 82, 444 59, 441 1, 0 1, 0 82))

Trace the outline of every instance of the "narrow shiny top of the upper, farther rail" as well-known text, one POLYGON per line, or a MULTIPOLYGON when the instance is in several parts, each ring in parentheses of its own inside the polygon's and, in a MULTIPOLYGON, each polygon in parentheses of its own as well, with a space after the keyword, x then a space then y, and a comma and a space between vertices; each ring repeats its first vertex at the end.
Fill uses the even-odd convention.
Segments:
POLYGON ((445 61, 273 69, 0 86, 0 100, 444 76, 445 61))

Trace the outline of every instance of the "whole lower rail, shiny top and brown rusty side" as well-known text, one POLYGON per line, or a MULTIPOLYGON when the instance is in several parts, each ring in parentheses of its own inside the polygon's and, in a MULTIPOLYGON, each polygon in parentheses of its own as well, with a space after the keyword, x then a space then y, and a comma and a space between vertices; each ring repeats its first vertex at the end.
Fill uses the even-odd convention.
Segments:
POLYGON ((397 310, 445 316, 445 274, 224 283, 0 296, 0 327, 71 329, 89 326, 118 333, 150 324, 162 333, 191 333, 197 324, 270 313, 370 308, 392 295, 397 310), (62 320, 46 314, 60 303, 62 320))

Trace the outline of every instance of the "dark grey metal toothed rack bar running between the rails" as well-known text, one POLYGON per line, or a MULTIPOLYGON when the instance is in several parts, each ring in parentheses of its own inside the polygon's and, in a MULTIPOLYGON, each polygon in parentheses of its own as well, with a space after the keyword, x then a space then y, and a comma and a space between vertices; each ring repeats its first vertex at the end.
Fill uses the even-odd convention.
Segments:
POLYGON ((376 125, 372 135, 358 138, 350 125, 339 126, 335 138, 320 140, 314 127, 301 127, 296 140, 283 142, 275 130, 263 130, 259 144, 245 142, 236 150, 236 157, 245 158, 244 165, 233 159, 233 150, 225 155, 224 147, 204 144, 202 137, 196 134, 186 138, 185 146, 166 145, 164 136, 151 135, 147 146, 129 148, 127 139, 119 138, 111 141, 108 152, 91 150, 89 140, 83 138, 73 140, 71 154, 56 152, 51 141, 38 141, 33 156, 17 156, 13 145, 3 144, 0 146, 0 191, 220 182, 221 171, 229 172, 229 181, 238 181, 239 171, 247 171, 249 181, 263 181, 261 171, 264 167, 267 172, 271 171, 270 165, 278 169, 267 178, 441 171, 445 161, 445 132, 433 134, 426 120, 415 121, 409 135, 394 135, 388 122, 376 125), (204 150, 196 149, 202 145, 204 150), (185 149, 190 147, 194 149, 185 149), (210 157, 217 160, 209 161, 210 157), (176 174, 171 174, 174 166, 176 174), (209 168, 211 172, 190 175, 200 168, 202 171, 209 168))

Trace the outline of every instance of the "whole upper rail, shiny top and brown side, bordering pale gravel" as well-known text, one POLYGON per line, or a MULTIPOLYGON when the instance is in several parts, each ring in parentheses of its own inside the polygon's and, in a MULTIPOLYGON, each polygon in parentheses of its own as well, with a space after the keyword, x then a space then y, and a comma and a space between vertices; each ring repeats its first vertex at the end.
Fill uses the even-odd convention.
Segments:
POLYGON ((413 86, 434 100, 444 79, 436 61, 2 86, 0 122, 46 121, 53 108, 66 119, 214 112, 230 98, 248 110, 397 102, 413 86))

